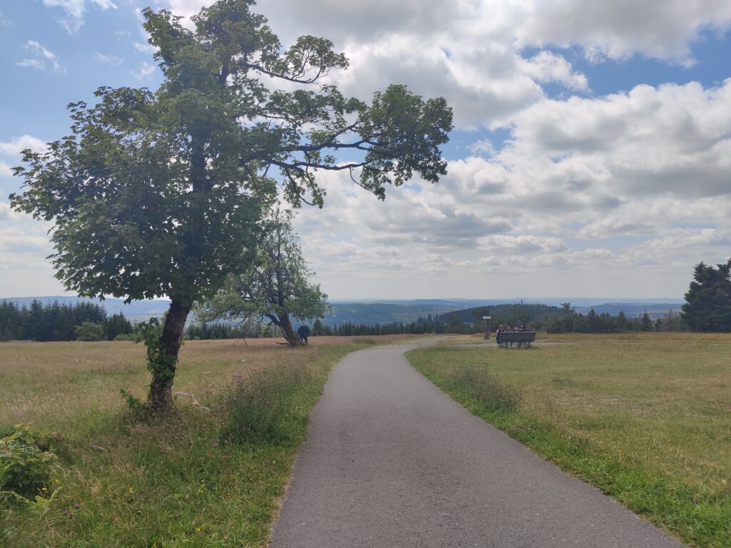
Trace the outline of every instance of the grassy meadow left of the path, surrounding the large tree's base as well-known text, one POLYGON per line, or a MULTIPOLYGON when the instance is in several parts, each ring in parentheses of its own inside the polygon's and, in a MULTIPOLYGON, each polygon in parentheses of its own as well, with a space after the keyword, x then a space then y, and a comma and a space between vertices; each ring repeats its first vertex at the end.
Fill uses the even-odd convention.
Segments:
POLYGON ((0 430, 31 423, 61 458, 38 503, 0 498, 0 545, 264 546, 330 368, 393 339, 190 341, 164 419, 119 393, 145 395, 140 345, 0 343, 0 430))

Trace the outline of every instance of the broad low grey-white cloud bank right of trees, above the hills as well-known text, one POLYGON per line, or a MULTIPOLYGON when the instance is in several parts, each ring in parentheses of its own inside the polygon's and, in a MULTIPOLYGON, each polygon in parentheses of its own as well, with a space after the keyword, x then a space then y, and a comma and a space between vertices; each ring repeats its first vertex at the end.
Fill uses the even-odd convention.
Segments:
POLYGON ((338 287, 335 272, 360 279, 373 270, 373 283, 388 272, 441 273, 476 294, 476 272, 532 279, 539 269, 546 286, 596 295, 572 285, 568 269, 621 295, 617 280, 667 266, 662 283, 651 277, 660 285, 635 294, 679 296, 692 265, 731 248, 729 127, 731 80, 542 99, 508 118, 504 148, 477 142, 488 157, 450 161, 436 185, 414 180, 381 203, 325 174, 325 208, 303 210, 298 227, 318 272, 338 287), (341 254, 344 243, 357 254, 341 254), (402 254, 389 262, 376 247, 402 254))

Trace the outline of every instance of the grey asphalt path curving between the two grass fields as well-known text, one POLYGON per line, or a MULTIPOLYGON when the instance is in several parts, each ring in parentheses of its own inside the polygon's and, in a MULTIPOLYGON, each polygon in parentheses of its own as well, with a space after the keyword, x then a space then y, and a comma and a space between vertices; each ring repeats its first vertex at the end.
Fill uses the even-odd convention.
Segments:
POLYGON ((683 546, 452 401, 406 361, 413 347, 335 366, 272 547, 683 546))

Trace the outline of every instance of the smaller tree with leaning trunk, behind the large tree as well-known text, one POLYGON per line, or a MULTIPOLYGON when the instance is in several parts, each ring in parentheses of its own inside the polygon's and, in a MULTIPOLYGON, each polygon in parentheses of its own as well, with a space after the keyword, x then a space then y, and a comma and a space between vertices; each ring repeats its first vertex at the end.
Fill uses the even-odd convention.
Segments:
POLYGON ((262 229, 257 259, 242 274, 230 276, 224 287, 202 304, 198 316, 202 321, 267 318, 295 346, 299 337, 292 319, 324 317, 329 309, 327 295, 312 281, 314 273, 292 230, 292 213, 273 209, 262 229))

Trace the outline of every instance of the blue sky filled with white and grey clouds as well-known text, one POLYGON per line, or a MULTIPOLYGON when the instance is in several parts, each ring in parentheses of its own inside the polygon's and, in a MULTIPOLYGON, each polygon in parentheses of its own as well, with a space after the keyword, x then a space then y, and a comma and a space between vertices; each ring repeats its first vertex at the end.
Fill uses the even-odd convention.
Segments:
MULTIPOLYGON (((204 0, 0 0, 0 297, 62 294, 50 224, 10 209, 23 148, 69 134, 101 85, 156 88, 140 10, 204 0)), ((211 4, 211 1, 208 1, 211 4)), ((286 46, 333 41, 331 74, 444 96, 447 175, 385 202, 324 173, 295 227, 333 299, 682 297, 731 256, 731 2, 261 0, 286 46)))

